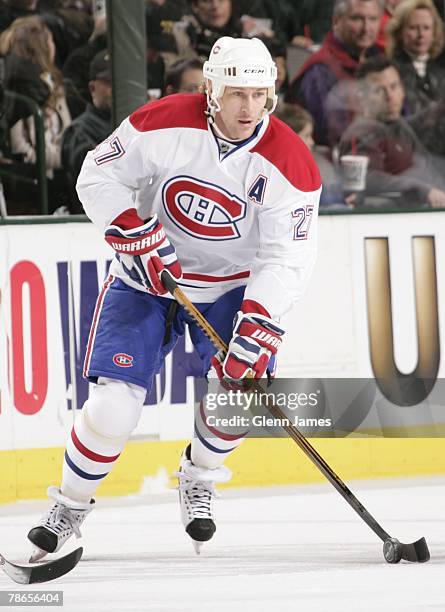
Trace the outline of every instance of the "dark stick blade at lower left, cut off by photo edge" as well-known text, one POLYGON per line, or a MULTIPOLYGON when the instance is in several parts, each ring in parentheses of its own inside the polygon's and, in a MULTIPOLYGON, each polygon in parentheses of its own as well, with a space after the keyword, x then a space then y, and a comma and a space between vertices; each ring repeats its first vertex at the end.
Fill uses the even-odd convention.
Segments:
POLYGON ((40 565, 19 565, 11 563, 11 561, 0 555, 0 567, 17 584, 49 582, 64 576, 76 567, 82 557, 82 553, 83 548, 80 547, 64 557, 59 557, 54 559, 54 561, 48 561, 40 565))

